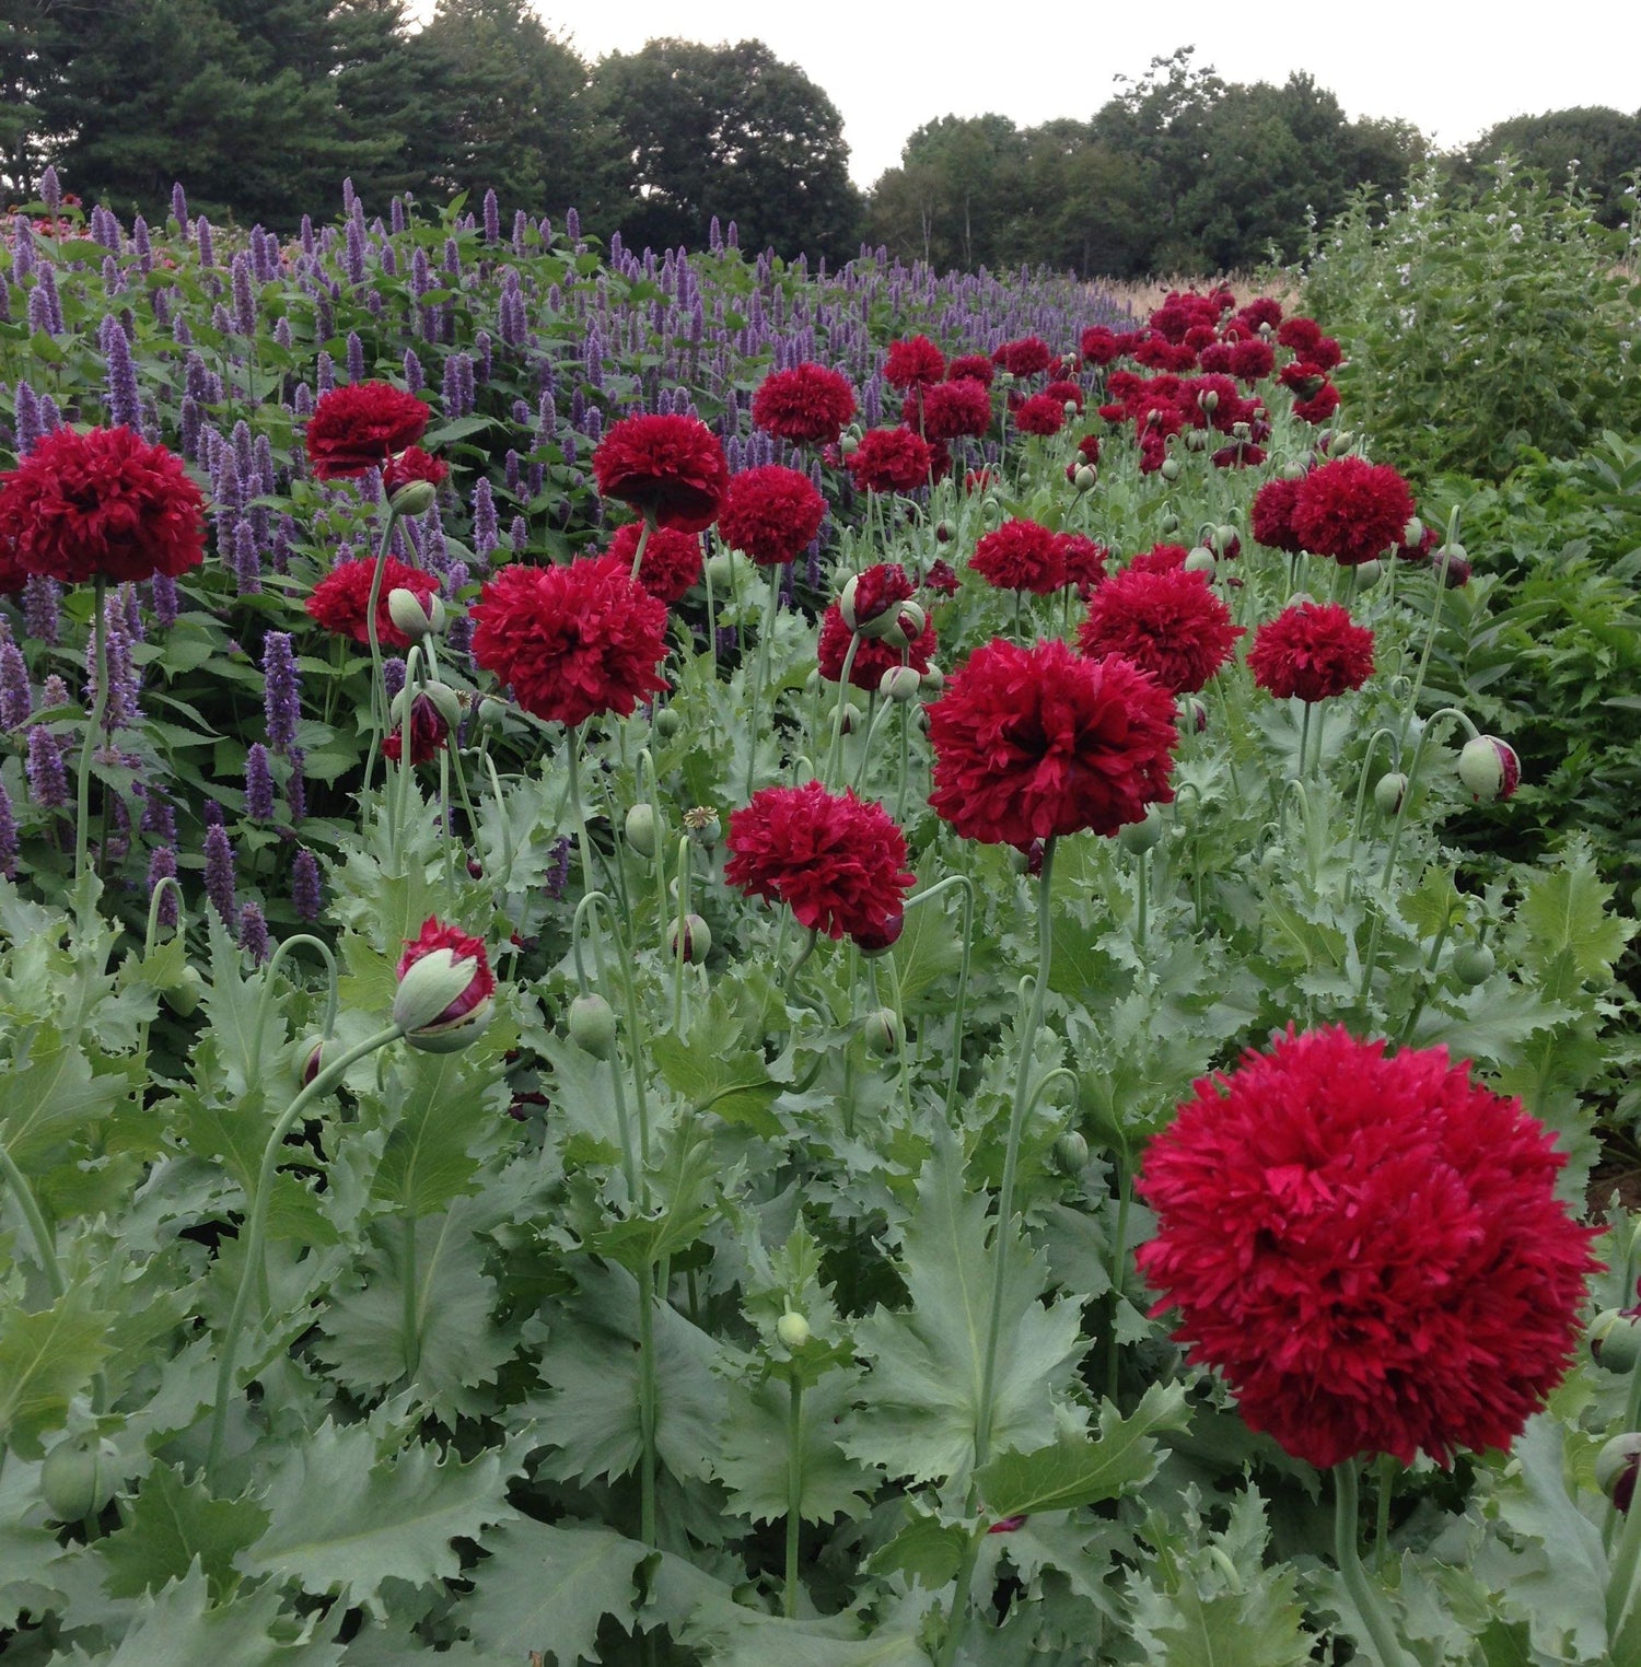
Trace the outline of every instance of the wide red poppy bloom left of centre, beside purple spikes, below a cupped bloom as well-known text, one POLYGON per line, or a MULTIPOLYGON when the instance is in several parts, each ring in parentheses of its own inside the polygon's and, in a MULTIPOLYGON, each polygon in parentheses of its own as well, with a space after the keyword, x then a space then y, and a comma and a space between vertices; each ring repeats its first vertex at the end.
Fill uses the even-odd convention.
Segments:
POLYGON ((630 562, 504 567, 472 605, 474 660, 512 685, 525 712, 575 725, 627 717, 667 685, 667 605, 629 577, 630 562))

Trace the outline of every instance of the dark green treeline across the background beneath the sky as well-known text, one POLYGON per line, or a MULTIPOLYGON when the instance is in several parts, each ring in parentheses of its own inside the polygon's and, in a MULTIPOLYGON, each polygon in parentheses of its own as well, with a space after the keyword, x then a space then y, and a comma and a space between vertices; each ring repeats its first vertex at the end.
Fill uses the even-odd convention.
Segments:
MULTIPOLYGON (((1561 110, 1441 158, 1459 178, 1509 148, 1598 217, 1626 217, 1641 117, 1561 110)), ((505 210, 580 213, 587 233, 837 260, 861 238, 936 268, 1224 272, 1296 258, 1361 188, 1399 192, 1418 128, 1346 120, 1307 75, 1224 82, 1181 48, 1091 120, 1021 128, 942 117, 869 195, 842 120, 760 42, 654 40, 589 65, 527 0, 0 0, 0 188, 68 190, 160 215, 175 178, 212 217, 292 232, 342 178, 372 207, 494 188, 505 210)))

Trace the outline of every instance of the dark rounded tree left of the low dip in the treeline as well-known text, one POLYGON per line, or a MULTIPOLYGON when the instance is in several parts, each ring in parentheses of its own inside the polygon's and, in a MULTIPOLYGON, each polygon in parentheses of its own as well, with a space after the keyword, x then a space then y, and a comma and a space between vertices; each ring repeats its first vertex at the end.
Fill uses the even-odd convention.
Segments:
POLYGON ((652 40, 604 58, 592 97, 627 175, 614 213, 632 247, 700 247, 717 217, 749 248, 852 252, 861 202, 842 117, 762 42, 652 40))

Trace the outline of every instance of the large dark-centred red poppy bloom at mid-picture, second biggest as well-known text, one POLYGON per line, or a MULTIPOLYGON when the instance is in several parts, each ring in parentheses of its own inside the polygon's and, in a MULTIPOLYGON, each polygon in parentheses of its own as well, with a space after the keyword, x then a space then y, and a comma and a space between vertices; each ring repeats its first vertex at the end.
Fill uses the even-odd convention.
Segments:
POLYGON ((1174 797, 1174 702, 1131 662, 1084 660, 1057 638, 1001 637, 929 708, 929 803, 964 839, 1017 845, 1116 834, 1174 797))

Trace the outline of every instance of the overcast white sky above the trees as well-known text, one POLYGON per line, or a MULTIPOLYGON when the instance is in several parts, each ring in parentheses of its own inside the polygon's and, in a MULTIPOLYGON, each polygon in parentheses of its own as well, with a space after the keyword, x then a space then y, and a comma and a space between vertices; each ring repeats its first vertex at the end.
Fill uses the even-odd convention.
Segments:
MULTIPOLYGON (((412 7, 427 17, 434 0, 412 7)), ((1021 127, 1087 120, 1154 57, 1194 45, 1227 82, 1309 72, 1347 117, 1404 117, 1441 147, 1494 122, 1573 105, 1641 108, 1641 3, 1573 0, 1539 12, 1476 0, 1332 0, 1307 7, 1096 5, 1012 0, 537 0, 542 22, 595 62, 647 40, 762 40, 837 105, 849 172, 871 185, 941 115, 996 110, 1021 127), (1207 15, 1204 15, 1204 12, 1207 15)))

